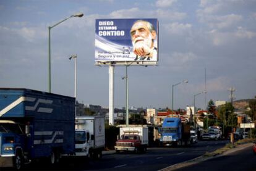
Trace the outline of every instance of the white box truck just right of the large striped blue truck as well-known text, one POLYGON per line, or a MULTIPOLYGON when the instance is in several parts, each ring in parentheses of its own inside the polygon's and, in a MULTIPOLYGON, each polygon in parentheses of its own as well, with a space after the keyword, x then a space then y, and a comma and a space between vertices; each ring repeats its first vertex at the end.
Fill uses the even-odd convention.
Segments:
POLYGON ((75 156, 100 159, 105 148, 105 117, 75 117, 75 156))

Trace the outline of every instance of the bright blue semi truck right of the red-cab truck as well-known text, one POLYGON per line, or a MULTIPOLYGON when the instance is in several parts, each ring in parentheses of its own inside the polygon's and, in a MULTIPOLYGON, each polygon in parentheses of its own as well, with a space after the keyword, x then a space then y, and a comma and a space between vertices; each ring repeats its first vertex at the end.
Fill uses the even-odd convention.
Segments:
POLYGON ((179 117, 166 117, 160 130, 160 146, 187 146, 190 144, 190 125, 179 117))

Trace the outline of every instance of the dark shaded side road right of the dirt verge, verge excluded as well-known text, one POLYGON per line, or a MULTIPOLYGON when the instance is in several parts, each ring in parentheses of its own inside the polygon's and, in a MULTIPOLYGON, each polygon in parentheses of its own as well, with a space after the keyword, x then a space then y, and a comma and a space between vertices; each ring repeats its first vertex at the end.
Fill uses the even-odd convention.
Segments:
POLYGON ((256 155, 252 146, 177 170, 256 170, 256 155))

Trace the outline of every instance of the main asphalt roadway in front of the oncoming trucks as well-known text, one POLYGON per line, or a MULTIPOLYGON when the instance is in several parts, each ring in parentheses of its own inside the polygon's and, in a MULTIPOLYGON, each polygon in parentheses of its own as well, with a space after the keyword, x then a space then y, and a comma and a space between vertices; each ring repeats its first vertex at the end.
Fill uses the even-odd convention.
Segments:
POLYGON ((188 148, 148 148, 145 154, 121 153, 103 155, 100 161, 64 159, 58 167, 36 163, 25 170, 160 170, 223 147, 228 141, 199 141, 188 148))

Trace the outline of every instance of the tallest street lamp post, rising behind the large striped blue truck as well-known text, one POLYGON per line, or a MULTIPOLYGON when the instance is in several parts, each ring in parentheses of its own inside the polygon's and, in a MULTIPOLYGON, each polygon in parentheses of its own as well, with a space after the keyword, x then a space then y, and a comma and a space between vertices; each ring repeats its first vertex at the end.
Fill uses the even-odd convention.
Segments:
POLYGON ((59 25, 60 23, 66 21, 67 19, 70 19, 71 17, 83 17, 82 13, 77 13, 74 15, 70 15, 69 17, 67 17, 64 20, 61 20, 60 22, 54 24, 53 26, 49 26, 48 27, 48 33, 49 33, 49 39, 48 39, 48 88, 49 88, 49 93, 51 93, 51 28, 56 27, 57 25, 59 25))

